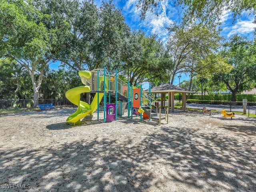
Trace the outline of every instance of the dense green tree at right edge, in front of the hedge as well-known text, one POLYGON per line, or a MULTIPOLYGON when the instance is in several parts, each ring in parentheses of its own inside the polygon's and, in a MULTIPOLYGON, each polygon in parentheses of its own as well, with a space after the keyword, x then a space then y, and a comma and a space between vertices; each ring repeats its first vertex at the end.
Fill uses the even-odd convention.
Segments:
POLYGON ((236 101, 237 93, 255 87, 256 47, 247 38, 234 35, 223 48, 220 54, 226 60, 230 71, 216 72, 214 80, 224 82, 226 88, 232 92, 232 101, 236 101))

